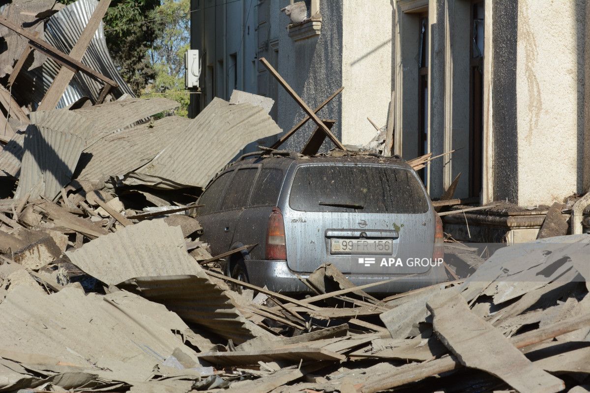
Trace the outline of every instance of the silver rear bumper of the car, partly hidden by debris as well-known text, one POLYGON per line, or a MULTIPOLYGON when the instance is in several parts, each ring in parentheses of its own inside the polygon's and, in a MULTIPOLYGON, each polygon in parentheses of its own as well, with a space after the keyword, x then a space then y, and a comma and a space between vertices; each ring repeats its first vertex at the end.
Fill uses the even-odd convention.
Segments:
MULTIPOLYGON (((248 280, 250 283, 264 287, 274 292, 298 293, 312 292, 301 282, 299 277, 307 278, 309 273, 297 273, 289 269, 286 260, 244 260, 248 280)), ((395 281, 366 288, 367 293, 398 293, 418 289, 447 280, 444 267, 432 267, 428 272, 419 275, 360 275, 348 274, 346 277, 355 285, 365 285, 374 282, 398 278, 395 281)))

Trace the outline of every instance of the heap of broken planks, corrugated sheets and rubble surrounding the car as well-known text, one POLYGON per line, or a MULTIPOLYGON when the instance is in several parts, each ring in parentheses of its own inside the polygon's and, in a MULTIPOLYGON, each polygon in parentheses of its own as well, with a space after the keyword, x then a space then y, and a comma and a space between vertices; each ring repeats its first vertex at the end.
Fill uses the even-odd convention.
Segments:
MULTIPOLYGON (((19 28, 43 16, 30 30, 51 43, 80 35, 96 7, 14 1, 3 15, 19 28)), ((174 101, 130 97, 101 29, 84 59, 118 81, 104 103, 84 68, 58 109, 34 110, 44 91, 18 104, 0 89, 15 105, 0 118, 14 131, 0 134, 0 392, 590 391, 590 235, 557 236, 561 205, 535 242, 487 258, 447 239, 448 282, 386 298, 330 264, 301 278, 307 296, 228 278, 228 253, 199 240, 196 200, 244 146, 282 132, 272 103, 236 92, 189 120, 174 101)), ((28 41, 0 35, 11 75, 28 41)), ((32 60, 21 76, 53 70, 46 90, 57 65, 32 60)), ((319 148, 333 135, 314 121, 319 148)), ((381 154, 384 131, 329 154, 381 154)), ((462 206, 453 193, 435 206, 462 206)))

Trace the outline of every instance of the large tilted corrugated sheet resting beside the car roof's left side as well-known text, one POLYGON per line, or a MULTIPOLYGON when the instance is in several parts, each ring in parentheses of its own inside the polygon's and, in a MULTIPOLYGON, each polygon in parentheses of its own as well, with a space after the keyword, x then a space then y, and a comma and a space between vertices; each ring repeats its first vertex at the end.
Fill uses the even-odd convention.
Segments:
POLYGON ((129 174, 126 183, 205 187, 246 144, 281 132, 263 108, 214 98, 153 161, 129 174))

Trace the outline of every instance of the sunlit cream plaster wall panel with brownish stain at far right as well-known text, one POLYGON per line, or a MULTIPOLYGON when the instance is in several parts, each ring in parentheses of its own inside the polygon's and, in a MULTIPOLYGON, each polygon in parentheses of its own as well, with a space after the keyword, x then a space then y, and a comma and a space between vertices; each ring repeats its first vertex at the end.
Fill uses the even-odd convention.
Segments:
POLYGON ((580 191, 584 11, 585 0, 553 0, 550 4, 519 1, 516 91, 520 206, 550 204, 580 191))

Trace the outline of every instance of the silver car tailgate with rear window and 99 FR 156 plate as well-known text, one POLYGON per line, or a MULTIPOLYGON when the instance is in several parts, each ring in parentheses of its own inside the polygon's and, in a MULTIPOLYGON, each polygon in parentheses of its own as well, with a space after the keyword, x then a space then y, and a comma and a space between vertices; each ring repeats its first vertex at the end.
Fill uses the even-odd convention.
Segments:
POLYGON ((322 263, 343 273, 430 269, 407 263, 430 258, 434 246, 434 213, 409 167, 306 164, 297 168, 281 203, 288 206, 283 214, 290 269, 312 272, 322 263))

